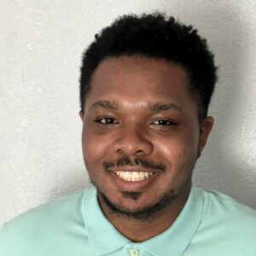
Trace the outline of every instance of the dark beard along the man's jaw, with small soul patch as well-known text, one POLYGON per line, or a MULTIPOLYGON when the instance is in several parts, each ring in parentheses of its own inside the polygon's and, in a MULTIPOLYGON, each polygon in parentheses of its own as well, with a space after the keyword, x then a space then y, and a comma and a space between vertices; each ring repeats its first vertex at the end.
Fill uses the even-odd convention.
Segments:
MULTIPOLYGON (((148 221, 154 218, 157 212, 165 209, 172 204, 172 201, 176 198, 174 190, 166 192, 162 195, 160 199, 152 205, 145 207, 138 207, 136 210, 131 210, 128 207, 124 207, 119 204, 115 204, 108 199, 108 196, 102 193, 98 188, 97 193, 101 196, 103 203, 108 207, 109 212, 111 212, 116 217, 132 218, 140 222, 148 221)), ((133 201, 137 201, 142 193, 140 192, 123 192, 122 195, 124 199, 129 198, 133 201)))

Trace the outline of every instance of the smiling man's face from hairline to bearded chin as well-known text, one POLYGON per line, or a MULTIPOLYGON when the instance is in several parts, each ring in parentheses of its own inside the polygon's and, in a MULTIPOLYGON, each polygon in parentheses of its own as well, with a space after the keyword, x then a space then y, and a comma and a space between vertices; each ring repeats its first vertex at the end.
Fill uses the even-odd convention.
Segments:
POLYGON ((212 128, 199 124, 188 83, 183 67, 146 57, 110 58, 96 68, 82 144, 101 204, 104 195, 120 211, 140 212, 188 194, 212 128))

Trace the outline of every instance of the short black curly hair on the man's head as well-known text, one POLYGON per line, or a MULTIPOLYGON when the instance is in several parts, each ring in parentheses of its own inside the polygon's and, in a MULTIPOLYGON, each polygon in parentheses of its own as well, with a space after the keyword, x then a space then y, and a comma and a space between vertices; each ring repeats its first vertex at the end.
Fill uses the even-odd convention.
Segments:
POLYGON ((176 63, 189 73, 189 93, 194 96, 198 117, 207 116, 208 106, 217 81, 214 56, 207 40, 192 26, 186 26, 172 16, 154 12, 124 15, 96 34, 84 51, 80 76, 80 107, 84 113, 90 80, 96 67, 107 58, 145 56, 176 63))

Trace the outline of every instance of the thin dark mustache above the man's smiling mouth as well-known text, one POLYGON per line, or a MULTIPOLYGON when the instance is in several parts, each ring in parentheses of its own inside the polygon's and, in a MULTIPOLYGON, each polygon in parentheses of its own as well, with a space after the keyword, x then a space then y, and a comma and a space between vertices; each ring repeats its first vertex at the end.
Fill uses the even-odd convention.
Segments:
POLYGON ((154 163, 153 161, 143 160, 142 158, 135 157, 131 159, 128 155, 123 155, 118 160, 105 160, 102 163, 103 169, 109 172, 111 167, 119 166, 143 166, 146 169, 153 169, 160 172, 166 172, 166 165, 163 163, 154 163))

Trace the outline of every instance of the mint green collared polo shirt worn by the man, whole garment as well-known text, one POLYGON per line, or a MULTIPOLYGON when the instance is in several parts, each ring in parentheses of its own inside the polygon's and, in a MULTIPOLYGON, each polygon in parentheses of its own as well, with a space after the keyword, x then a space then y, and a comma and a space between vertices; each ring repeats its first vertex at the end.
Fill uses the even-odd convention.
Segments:
POLYGON ((193 188, 168 230, 135 243, 105 218, 96 189, 86 189, 5 224, 0 255, 256 256, 256 212, 227 195, 193 188))

